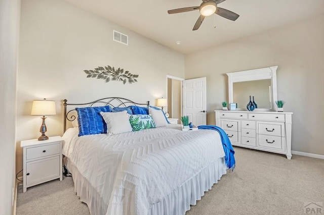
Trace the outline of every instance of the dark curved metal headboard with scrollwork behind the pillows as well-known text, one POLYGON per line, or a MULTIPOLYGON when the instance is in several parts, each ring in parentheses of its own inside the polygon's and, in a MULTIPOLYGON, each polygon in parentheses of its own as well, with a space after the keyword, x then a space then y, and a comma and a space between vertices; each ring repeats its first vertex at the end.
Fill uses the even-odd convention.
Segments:
POLYGON ((63 109, 64 109, 64 131, 66 131, 66 120, 72 122, 76 119, 75 115, 72 115, 71 112, 75 111, 75 109, 72 109, 70 111, 67 112, 67 106, 68 105, 72 105, 72 106, 79 106, 79 105, 87 105, 90 104, 89 106, 106 106, 106 105, 110 105, 112 106, 112 108, 115 107, 127 107, 129 105, 145 105, 145 106, 149 106, 150 105, 150 101, 147 101, 146 103, 137 103, 135 101, 129 100, 127 98, 121 98, 121 97, 107 97, 107 98, 101 98, 95 101, 91 101, 88 103, 77 103, 77 104, 72 104, 72 103, 67 103, 67 99, 63 100, 63 109), (100 105, 97 105, 100 104, 100 105), (70 114, 70 116, 69 116, 70 114))

